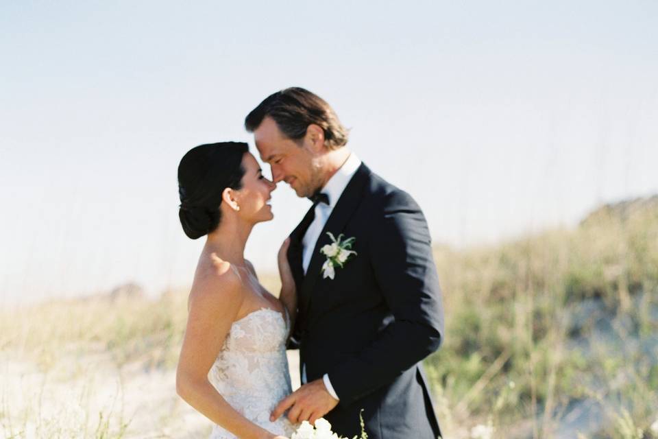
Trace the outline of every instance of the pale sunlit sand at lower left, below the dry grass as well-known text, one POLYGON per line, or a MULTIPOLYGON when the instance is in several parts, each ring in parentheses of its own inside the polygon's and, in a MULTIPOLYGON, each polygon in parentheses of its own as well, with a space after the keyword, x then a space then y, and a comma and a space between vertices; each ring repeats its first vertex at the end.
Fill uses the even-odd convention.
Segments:
MULTIPOLYGON (((289 351, 293 388, 297 351, 289 351)), ((114 366, 108 353, 63 355, 45 368, 0 353, 0 438, 204 438, 210 420, 175 393, 175 370, 114 366), (102 414, 102 418, 99 414, 102 414)))

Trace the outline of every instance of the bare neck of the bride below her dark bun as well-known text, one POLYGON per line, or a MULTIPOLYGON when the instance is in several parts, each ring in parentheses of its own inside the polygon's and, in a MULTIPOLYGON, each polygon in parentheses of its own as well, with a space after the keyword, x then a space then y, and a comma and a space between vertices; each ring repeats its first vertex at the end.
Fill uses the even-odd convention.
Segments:
POLYGON ((215 252, 223 261, 245 265, 245 245, 252 228, 254 224, 246 224, 238 218, 222 218, 219 227, 208 233, 203 252, 215 252))

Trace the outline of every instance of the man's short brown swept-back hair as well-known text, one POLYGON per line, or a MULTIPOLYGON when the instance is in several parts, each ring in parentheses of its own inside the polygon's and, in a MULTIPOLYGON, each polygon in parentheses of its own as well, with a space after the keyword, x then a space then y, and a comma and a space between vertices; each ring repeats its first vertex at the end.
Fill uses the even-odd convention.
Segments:
POLYGON ((311 123, 324 131, 324 144, 337 150, 348 143, 348 130, 324 99, 301 87, 291 87, 269 95, 245 118, 245 128, 254 132, 265 117, 271 117, 289 139, 299 141, 311 123))

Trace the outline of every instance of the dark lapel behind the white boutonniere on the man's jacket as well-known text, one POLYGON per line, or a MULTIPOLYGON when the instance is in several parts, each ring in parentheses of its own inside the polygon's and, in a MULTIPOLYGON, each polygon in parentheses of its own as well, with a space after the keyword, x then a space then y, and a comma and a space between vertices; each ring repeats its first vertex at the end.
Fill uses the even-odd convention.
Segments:
MULTIPOLYGON (((361 166, 356 169, 356 173, 352 176, 352 179, 345 187, 341 198, 339 198, 336 206, 334 206, 331 215, 327 219, 324 228, 322 228, 322 231, 317 238, 315 248, 313 248, 313 255, 310 258, 308 270, 306 270, 306 276, 304 277, 302 289, 300 291, 300 299, 302 299, 300 300, 300 311, 303 313, 306 313, 306 310, 310 305, 310 292, 313 291, 313 287, 315 287, 315 283, 321 274, 322 265, 326 260, 326 257, 324 254, 320 253, 319 249, 325 244, 330 244, 331 239, 328 237, 327 232, 331 232, 335 237, 338 237, 343 231, 348 220, 352 217, 352 213, 354 213, 356 207, 361 202, 363 187, 369 173, 370 170, 368 167, 361 163, 361 166)), ((340 275, 341 272, 339 268, 336 276, 340 275)))

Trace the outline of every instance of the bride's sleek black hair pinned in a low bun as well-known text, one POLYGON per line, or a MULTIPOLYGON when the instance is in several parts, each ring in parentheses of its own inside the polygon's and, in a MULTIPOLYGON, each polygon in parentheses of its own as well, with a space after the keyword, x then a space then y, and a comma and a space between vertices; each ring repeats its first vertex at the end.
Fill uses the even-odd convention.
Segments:
POLYGON ((178 217, 185 235, 202 237, 219 226, 221 193, 241 189, 245 175, 242 158, 247 143, 221 142, 193 147, 178 165, 178 217))

